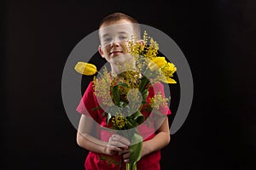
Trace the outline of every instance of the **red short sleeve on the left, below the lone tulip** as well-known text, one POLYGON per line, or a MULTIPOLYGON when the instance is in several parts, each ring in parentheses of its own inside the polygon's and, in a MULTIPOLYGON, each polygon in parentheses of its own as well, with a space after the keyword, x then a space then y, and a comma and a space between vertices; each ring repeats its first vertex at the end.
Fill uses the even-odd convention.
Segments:
POLYGON ((79 102, 76 111, 84 114, 85 116, 91 116, 94 120, 97 120, 97 111, 93 111, 93 109, 95 109, 97 106, 93 82, 90 82, 79 102))

